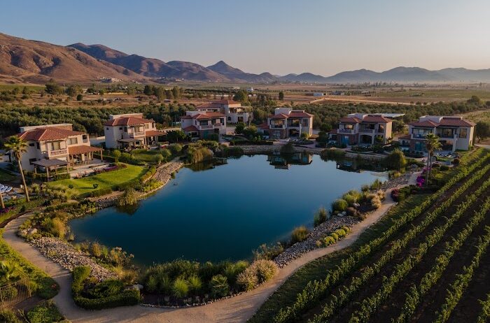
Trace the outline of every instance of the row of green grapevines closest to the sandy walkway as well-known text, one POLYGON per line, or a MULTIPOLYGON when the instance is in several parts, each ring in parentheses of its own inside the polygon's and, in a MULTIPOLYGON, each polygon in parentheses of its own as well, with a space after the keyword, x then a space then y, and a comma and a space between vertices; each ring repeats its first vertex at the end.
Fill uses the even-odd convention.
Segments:
MULTIPOLYGON (((316 305, 319 299, 323 298, 329 290, 334 287, 340 280, 345 278, 347 275, 351 274, 356 268, 363 265, 363 261, 372 254, 379 247, 387 243, 393 234, 397 233, 405 224, 411 222, 416 217, 421 215, 424 210, 426 210, 431 204, 433 204, 437 199, 440 199, 442 194, 450 189, 453 185, 460 182, 467 175, 475 171, 477 168, 485 164, 488 159, 490 159, 490 154, 486 154, 484 157, 479 159, 476 163, 472 164, 468 168, 462 168, 459 173, 454 175, 443 187, 441 187, 435 194, 428 197, 421 205, 416 206, 409 212, 402 215, 402 217, 393 221, 393 224, 389 229, 384 231, 381 236, 373 239, 369 243, 359 247, 359 250, 351 254, 346 259, 342 259, 339 266, 332 271, 329 271, 325 278, 321 281, 314 280, 308 282, 307 286, 304 287, 300 294, 297 294, 297 298, 292 306, 287 308, 281 308, 279 313, 274 317, 274 322, 290 322, 297 318, 305 310, 316 305)), ((488 170, 487 165, 484 169, 485 172, 488 170)))

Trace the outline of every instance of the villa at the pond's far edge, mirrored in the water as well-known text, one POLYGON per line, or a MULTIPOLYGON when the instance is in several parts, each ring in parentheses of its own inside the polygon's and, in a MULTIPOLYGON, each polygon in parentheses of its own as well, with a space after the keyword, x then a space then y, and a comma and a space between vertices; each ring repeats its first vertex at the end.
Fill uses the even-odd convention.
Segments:
POLYGON ((270 138, 298 138, 301 134, 313 134, 313 115, 304 110, 275 108, 274 115, 267 117, 267 123, 260 124, 260 133, 270 138))

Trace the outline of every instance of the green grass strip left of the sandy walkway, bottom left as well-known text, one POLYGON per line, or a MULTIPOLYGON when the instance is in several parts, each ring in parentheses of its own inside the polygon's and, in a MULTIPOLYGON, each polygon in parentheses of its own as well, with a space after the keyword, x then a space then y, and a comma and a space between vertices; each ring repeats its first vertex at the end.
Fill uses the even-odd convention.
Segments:
POLYGON ((55 280, 27 261, 27 259, 22 257, 20 253, 13 250, 10 245, 3 240, 3 229, 0 229, 0 236, 0 259, 5 259, 16 264, 20 271, 29 277, 32 287, 34 287, 34 292, 36 292, 38 296, 43 299, 50 299, 58 294, 59 287, 55 280))

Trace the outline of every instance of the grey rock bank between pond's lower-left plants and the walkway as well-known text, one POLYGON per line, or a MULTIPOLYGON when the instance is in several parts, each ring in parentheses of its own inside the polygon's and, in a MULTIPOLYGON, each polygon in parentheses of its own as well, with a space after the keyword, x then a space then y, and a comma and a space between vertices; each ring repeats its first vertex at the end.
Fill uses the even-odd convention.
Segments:
POLYGON ((76 250, 73 245, 57 238, 42 237, 29 241, 29 244, 69 271, 73 271, 73 268, 78 266, 89 266, 92 269, 90 275, 99 281, 117 278, 116 273, 97 264, 87 254, 76 250))

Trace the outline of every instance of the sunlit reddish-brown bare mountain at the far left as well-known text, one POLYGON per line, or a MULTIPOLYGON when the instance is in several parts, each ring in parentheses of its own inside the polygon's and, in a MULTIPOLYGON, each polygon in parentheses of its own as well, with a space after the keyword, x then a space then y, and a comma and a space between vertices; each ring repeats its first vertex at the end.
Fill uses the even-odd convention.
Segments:
POLYGON ((43 83, 50 78, 64 82, 145 79, 123 66, 99 61, 74 48, 0 33, 0 80, 43 83))

